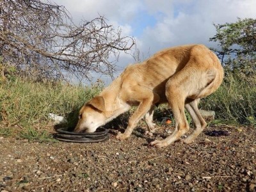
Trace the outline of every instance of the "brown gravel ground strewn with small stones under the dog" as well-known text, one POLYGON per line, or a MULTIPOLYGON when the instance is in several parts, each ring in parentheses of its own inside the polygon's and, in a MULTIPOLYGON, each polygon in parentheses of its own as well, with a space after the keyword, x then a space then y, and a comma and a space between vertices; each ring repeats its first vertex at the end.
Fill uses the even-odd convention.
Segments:
POLYGON ((126 141, 38 143, 0 138, 0 191, 256 191, 256 128, 208 127, 186 145, 136 129, 126 141), (205 132, 228 131, 211 137, 205 132))

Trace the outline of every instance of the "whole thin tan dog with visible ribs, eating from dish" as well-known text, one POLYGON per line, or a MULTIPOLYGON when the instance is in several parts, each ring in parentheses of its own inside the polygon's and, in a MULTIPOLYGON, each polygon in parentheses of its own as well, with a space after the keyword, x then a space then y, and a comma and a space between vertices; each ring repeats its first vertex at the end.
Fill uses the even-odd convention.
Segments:
POLYGON ((195 129, 183 141, 191 143, 206 126, 198 110, 199 99, 213 93, 222 80, 223 68, 218 57, 204 45, 164 49, 140 64, 129 65, 99 96, 84 104, 75 131, 94 132, 136 105, 138 108, 129 118, 127 129, 116 138, 129 138, 143 117, 148 126, 146 134, 152 135, 154 106, 168 102, 175 118, 175 131, 150 145, 166 147, 188 131, 185 108, 195 129))

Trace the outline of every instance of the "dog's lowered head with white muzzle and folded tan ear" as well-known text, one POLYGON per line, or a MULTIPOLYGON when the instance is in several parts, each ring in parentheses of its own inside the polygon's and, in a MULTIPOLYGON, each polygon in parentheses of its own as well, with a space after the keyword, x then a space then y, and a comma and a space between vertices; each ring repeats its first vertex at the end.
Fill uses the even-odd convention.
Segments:
POLYGON ((105 102, 101 96, 94 97, 79 111, 79 120, 74 132, 95 132, 98 127, 106 123, 104 115, 105 102))

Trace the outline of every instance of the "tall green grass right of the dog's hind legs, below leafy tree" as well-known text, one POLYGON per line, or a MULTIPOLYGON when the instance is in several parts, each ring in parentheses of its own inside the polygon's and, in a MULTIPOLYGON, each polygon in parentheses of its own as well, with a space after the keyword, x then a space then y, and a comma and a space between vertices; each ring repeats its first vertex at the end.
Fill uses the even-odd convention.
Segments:
POLYGON ((220 88, 200 102, 200 107, 214 110, 225 122, 255 125, 256 76, 228 74, 220 88))

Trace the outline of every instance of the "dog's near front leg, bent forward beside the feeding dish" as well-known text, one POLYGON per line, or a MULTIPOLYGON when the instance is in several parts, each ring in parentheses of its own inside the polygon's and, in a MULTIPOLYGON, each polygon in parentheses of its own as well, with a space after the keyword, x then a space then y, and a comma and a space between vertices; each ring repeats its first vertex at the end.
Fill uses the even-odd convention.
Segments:
POLYGON ((125 132, 119 133, 116 138, 118 140, 125 140, 126 138, 129 138, 131 136, 132 131, 134 127, 138 124, 139 120, 143 118, 143 116, 146 115, 146 113, 150 110, 153 104, 158 102, 159 96, 156 93, 153 93, 148 88, 141 88, 141 86, 138 86, 138 88, 133 88, 132 92, 130 93, 131 97, 134 98, 133 100, 137 100, 140 102, 138 108, 136 111, 132 114, 132 116, 129 118, 128 126, 125 129, 125 132))

